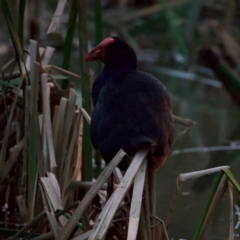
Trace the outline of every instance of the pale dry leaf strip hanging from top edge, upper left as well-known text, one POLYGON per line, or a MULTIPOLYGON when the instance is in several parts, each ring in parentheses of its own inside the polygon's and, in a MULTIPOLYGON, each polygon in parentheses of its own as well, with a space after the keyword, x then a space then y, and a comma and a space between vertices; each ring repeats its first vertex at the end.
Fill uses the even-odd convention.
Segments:
POLYGON ((66 4, 67 4, 66 0, 58 0, 57 9, 54 13, 54 16, 53 16, 51 24, 48 28, 47 34, 54 33, 59 28, 60 20, 63 15, 63 11, 65 9, 66 4))

